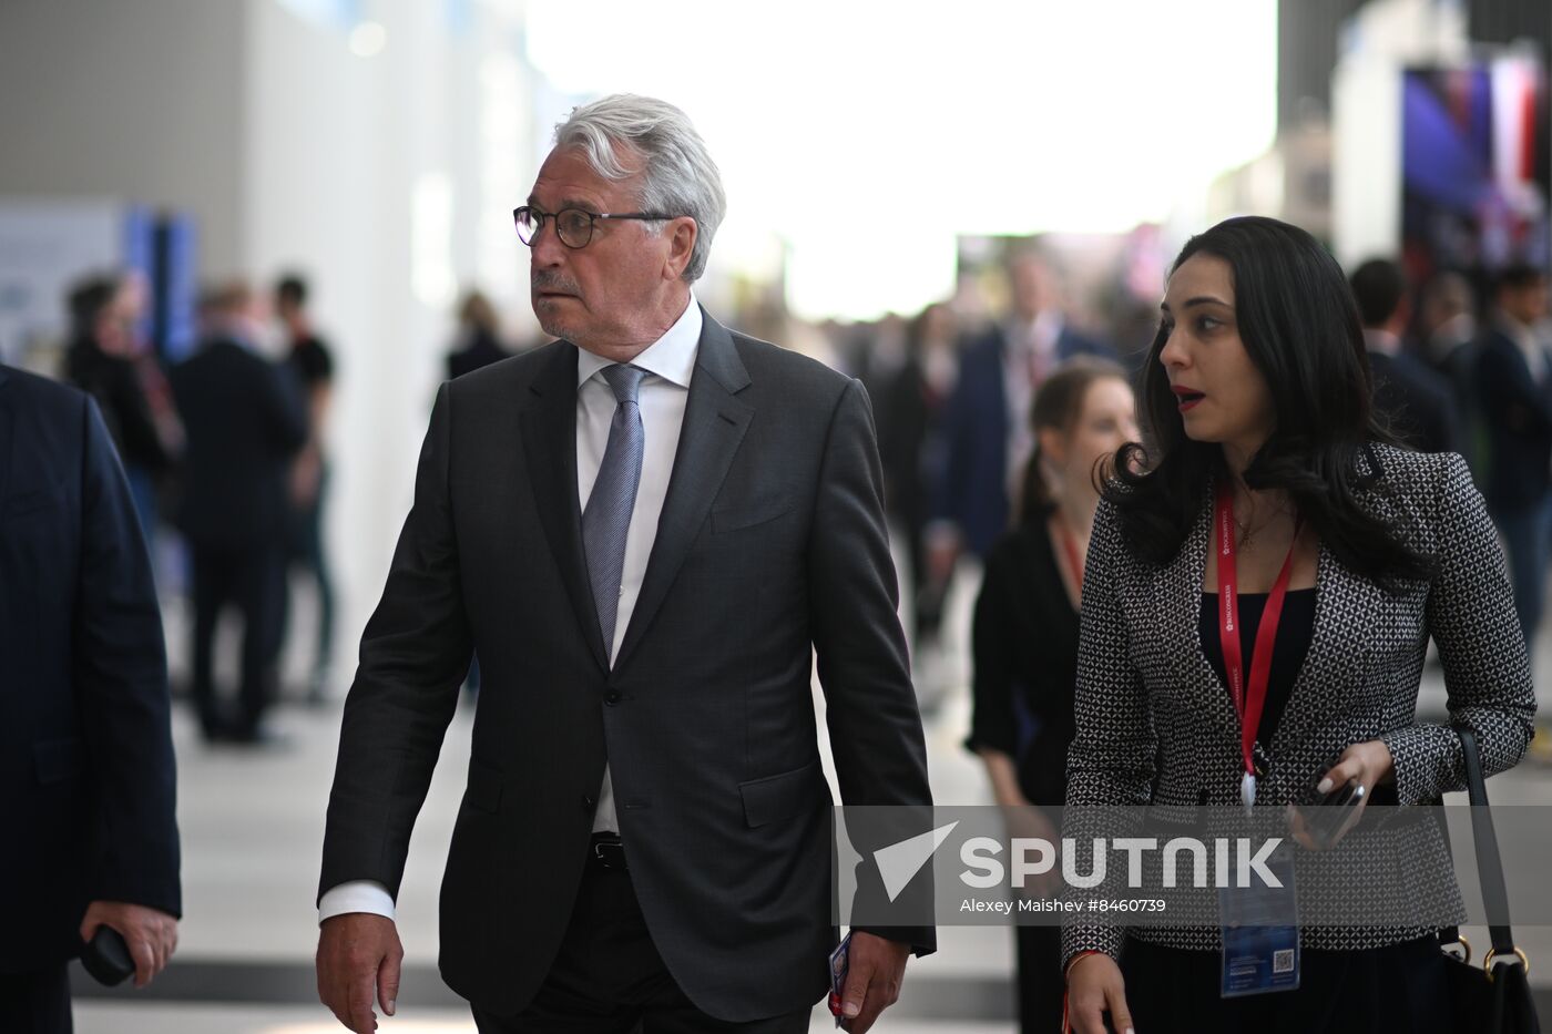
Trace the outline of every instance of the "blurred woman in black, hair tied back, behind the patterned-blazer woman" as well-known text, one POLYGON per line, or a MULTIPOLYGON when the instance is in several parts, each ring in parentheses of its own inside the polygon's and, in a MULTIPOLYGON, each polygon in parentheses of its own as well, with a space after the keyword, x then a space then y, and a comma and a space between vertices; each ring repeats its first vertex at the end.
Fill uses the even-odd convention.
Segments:
MULTIPOLYGON (((1138 438, 1121 366, 1079 356, 1035 394, 1035 452, 1018 525, 992 548, 975 604, 975 716, 965 747, 981 755, 996 803, 1020 835, 1054 840, 1031 804, 1060 807, 1072 742, 1079 598, 1102 474, 1138 438)), ((1049 1034, 1062 1020, 1062 944, 1052 925, 1018 925, 1018 1015, 1049 1034)))

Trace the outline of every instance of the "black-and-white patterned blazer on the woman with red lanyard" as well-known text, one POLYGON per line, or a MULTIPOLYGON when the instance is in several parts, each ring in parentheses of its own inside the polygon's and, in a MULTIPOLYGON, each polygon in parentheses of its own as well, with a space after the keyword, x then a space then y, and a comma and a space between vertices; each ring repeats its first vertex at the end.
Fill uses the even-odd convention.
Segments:
MULTIPOLYGON (((1287 710, 1270 744, 1257 803, 1302 801, 1316 772, 1356 742, 1381 739, 1395 761, 1405 807, 1465 789, 1460 744, 1448 725, 1417 720, 1417 689, 1429 637, 1445 668, 1450 720, 1478 737, 1488 775, 1513 767, 1530 741, 1535 694, 1515 619, 1504 556, 1465 461, 1374 446, 1364 467, 1380 480, 1363 505, 1408 545, 1437 560, 1431 581, 1398 595, 1344 567, 1321 543, 1315 630, 1287 710), (1372 470, 1369 470, 1372 472, 1372 470)), ((1077 664, 1077 737, 1068 753, 1069 821, 1077 806, 1234 807, 1240 789, 1238 717, 1201 651, 1198 613, 1212 528, 1212 488, 1175 559, 1156 567, 1122 540, 1102 503, 1083 578, 1077 664)), ((1397 812, 1401 815, 1403 812, 1397 812)), ((1428 823, 1363 823, 1352 835, 1386 837, 1367 857, 1394 865, 1344 871, 1339 857, 1299 849, 1301 894, 1322 887, 1372 891, 1395 925, 1307 927, 1305 947, 1366 949, 1429 933, 1464 907, 1446 843, 1428 823)), ((1114 835, 1114 831, 1110 831, 1114 835)), ((1350 869, 1352 866, 1349 866, 1350 869)), ((1374 914, 1374 913, 1372 913, 1374 914)), ((1097 949, 1119 956, 1127 930, 1063 927, 1063 964, 1097 949)), ((1135 927, 1133 936, 1183 949, 1218 949, 1215 924, 1135 927)))

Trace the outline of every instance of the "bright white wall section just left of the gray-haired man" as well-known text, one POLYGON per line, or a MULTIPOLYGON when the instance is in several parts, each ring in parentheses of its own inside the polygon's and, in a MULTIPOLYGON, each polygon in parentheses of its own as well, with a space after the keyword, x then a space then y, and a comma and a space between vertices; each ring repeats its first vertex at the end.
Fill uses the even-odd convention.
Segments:
MULTIPOLYGON (((523 152, 531 141, 523 107, 486 104, 483 54, 501 48, 506 29, 489 11, 476 6, 467 33, 452 34, 442 5, 372 0, 363 12, 386 28, 386 45, 362 57, 340 26, 247 3, 244 258, 265 279, 286 267, 307 273, 335 349, 326 534, 348 596, 337 654, 348 666, 410 506, 453 300, 476 267, 484 193, 528 191, 526 180, 483 177, 481 126, 509 120, 523 152)), ((509 225, 508 216, 503 233, 509 225)))

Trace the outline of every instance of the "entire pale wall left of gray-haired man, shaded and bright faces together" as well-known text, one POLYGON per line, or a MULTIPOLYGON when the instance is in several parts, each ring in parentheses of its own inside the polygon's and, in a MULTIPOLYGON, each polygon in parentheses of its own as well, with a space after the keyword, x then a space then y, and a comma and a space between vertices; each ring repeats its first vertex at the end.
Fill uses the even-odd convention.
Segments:
POLYGON ((526 304, 506 213, 534 172, 520 5, 478 3, 464 31, 424 0, 362 12, 386 28, 376 56, 276 0, 0 0, 0 199, 172 206, 203 278, 312 281, 338 365, 341 669, 410 505, 453 293, 478 269, 526 304))

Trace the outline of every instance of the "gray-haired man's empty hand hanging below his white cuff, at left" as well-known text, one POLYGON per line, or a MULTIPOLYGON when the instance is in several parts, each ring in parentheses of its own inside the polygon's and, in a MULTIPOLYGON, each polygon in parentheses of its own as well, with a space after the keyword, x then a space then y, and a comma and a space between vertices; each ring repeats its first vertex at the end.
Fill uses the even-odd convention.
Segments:
POLYGON ((399 997, 404 946, 393 919, 369 911, 348 911, 323 921, 318 930, 318 998, 355 1034, 377 1029, 372 992, 386 1015, 399 997))

